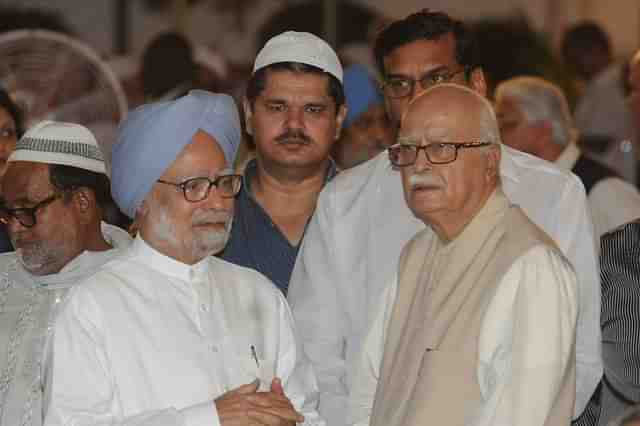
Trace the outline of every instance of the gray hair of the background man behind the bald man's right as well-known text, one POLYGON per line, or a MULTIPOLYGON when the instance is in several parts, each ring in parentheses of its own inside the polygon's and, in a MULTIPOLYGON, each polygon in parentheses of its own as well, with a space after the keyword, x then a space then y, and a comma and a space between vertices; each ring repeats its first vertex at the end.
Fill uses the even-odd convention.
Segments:
POLYGON ((516 77, 498 85, 496 100, 503 97, 518 104, 527 123, 548 122, 554 143, 565 146, 573 139, 569 104, 556 85, 538 77, 516 77))

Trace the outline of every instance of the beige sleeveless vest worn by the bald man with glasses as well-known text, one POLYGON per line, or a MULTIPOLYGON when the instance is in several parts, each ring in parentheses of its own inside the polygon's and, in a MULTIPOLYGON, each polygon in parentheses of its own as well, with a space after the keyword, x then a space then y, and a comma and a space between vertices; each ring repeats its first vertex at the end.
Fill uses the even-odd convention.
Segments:
MULTIPOLYGON (((445 244, 428 232, 400 258, 372 426, 464 425, 481 402, 478 338, 497 285, 532 247, 555 248, 500 189, 455 240, 445 244)), ((571 418, 574 368, 546 425, 571 418)))

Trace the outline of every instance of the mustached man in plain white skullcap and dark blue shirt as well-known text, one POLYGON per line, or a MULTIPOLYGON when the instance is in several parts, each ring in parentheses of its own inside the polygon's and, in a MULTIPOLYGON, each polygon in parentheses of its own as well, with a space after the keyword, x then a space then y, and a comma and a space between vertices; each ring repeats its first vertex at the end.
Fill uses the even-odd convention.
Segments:
POLYGON ((244 111, 256 158, 222 258, 263 273, 286 295, 318 194, 336 173, 329 155, 346 115, 338 56, 313 34, 273 37, 256 57, 244 111))

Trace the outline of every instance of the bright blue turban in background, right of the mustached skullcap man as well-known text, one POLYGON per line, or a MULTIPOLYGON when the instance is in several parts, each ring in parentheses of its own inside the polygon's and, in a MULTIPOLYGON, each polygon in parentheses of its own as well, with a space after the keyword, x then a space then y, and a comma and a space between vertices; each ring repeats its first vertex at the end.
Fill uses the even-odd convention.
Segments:
POLYGON ((344 96, 347 99, 345 127, 351 126, 371 105, 382 103, 378 85, 362 65, 351 65, 344 70, 344 96))

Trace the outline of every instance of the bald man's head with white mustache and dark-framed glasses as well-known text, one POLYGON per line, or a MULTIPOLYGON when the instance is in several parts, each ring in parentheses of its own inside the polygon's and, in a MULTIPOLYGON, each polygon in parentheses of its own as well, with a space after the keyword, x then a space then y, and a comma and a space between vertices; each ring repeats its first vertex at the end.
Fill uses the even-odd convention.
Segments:
POLYGON ((390 155, 407 205, 441 238, 455 238, 498 185, 499 142, 491 104, 471 89, 438 85, 409 105, 390 155))

